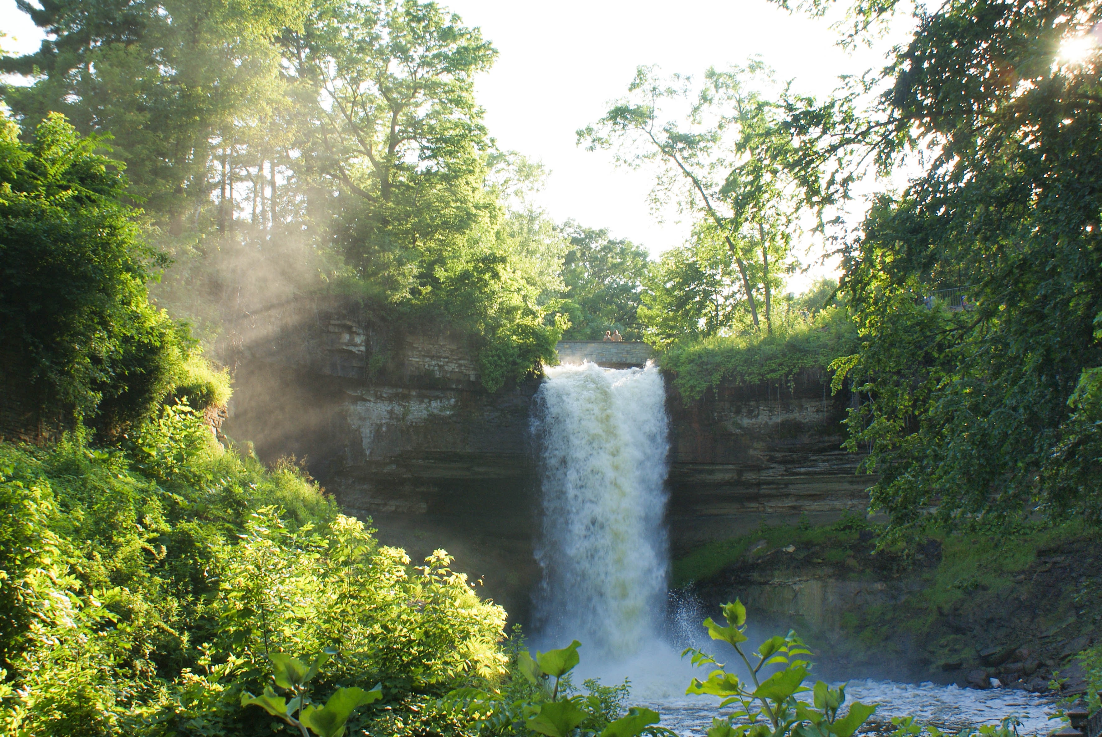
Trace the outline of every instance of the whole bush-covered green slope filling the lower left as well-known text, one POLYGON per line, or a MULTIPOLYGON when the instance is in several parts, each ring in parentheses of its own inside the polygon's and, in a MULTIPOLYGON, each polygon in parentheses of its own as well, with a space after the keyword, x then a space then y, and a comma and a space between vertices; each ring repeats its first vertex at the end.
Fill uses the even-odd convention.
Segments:
POLYGON ((0 505, 6 734, 253 735, 251 691, 336 736, 372 718, 353 711, 372 684, 442 693, 505 662, 504 613, 445 553, 409 566, 293 464, 223 449, 183 403, 126 449, 0 445, 0 505))

